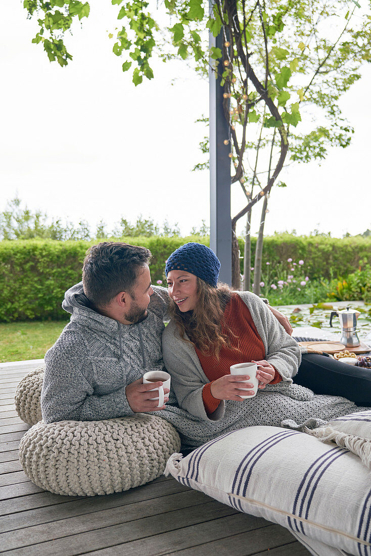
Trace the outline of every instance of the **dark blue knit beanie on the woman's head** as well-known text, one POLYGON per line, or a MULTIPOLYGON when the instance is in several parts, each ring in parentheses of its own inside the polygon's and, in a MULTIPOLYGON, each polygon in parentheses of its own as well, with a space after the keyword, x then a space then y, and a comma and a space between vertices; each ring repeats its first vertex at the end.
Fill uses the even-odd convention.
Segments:
POLYGON ((185 270, 216 287, 220 262, 209 247, 193 242, 182 245, 167 259, 165 274, 170 270, 185 270))

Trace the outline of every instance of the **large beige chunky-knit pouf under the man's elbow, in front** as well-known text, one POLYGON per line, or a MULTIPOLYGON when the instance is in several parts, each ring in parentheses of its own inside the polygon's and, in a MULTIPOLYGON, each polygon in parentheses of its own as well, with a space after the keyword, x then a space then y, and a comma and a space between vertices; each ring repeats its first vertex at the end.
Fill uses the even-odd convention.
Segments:
POLYGON ((174 426, 155 415, 33 425, 19 444, 26 475, 70 496, 121 492, 164 473, 180 449, 174 426))

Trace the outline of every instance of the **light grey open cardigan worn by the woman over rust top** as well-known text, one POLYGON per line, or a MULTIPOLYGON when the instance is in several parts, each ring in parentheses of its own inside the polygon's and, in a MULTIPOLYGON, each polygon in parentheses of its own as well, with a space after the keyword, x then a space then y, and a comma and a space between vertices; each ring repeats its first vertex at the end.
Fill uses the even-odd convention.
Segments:
MULTIPOLYGON (((283 381, 291 384, 291 377, 298 372, 301 361, 299 345, 285 332, 260 297, 249 291, 236 293, 248 306, 253 317, 258 334, 263 340, 265 359, 279 372, 283 381)), ((171 374, 172 388, 180 408, 205 420, 221 419, 225 413, 224 400, 210 418, 206 414, 202 389, 210 380, 202 370, 194 346, 181 339, 174 321, 170 321, 162 334, 162 356, 171 374)))

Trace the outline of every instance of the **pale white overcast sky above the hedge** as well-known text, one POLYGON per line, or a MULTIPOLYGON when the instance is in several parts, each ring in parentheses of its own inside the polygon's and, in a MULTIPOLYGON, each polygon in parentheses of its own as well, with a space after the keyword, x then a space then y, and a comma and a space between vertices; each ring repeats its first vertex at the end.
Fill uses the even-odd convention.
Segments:
MULTIPOLYGON (((20 0, 2 0, 0 211, 16 194, 30 209, 112 228, 120 217, 178 222, 187 234, 209 223, 209 173, 202 161, 209 90, 184 62, 157 61, 155 78, 135 87, 112 53, 117 6, 93 0, 82 28, 66 39, 73 61, 50 63, 32 44, 37 24, 20 0)), ((265 231, 318 229, 342 236, 371 228, 369 177, 371 66, 343 97, 352 145, 321 164, 291 165, 273 190, 265 231)), ((233 186, 233 215, 244 206, 233 186)), ((256 231, 255 219, 253 231, 256 231)), ((242 224, 240 225, 240 231, 242 224)))

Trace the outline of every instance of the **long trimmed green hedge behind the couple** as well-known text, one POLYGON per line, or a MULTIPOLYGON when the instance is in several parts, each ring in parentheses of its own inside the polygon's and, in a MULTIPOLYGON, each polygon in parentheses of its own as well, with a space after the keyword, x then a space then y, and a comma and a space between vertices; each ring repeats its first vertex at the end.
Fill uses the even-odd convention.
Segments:
MULTIPOLYGON (((152 282, 164 279, 167 257, 186 241, 209 245, 208 237, 122 238, 151 250, 152 282)), ((255 250, 253 238, 253 253, 255 250)), ((65 291, 81 280, 85 252, 96 241, 24 240, 0 242, 0 321, 66 319, 61 308, 65 291)), ((240 239, 241 254, 243 240, 240 239)), ((359 261, 371 261, 371 238, 334 239, 323 236, 266 237, 263 264, 303 259, 310 279, 347 276, 359 261)), ((241 259, 241 269, 243 260, 241 259)))

